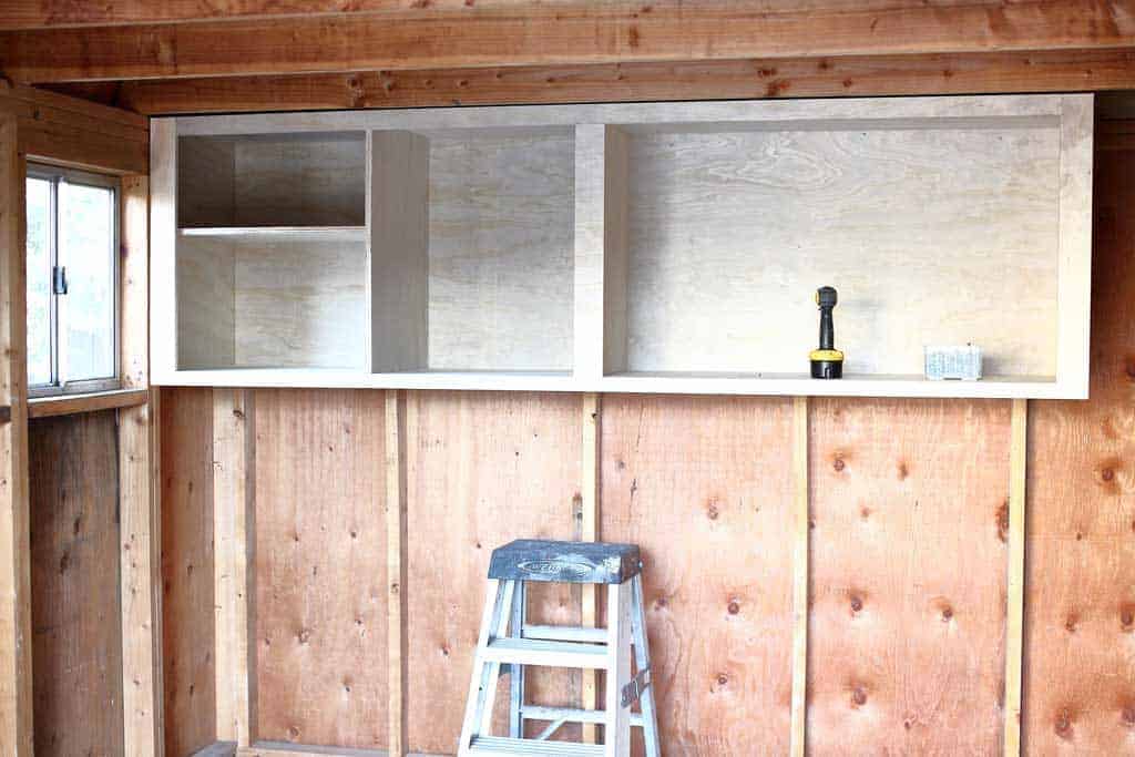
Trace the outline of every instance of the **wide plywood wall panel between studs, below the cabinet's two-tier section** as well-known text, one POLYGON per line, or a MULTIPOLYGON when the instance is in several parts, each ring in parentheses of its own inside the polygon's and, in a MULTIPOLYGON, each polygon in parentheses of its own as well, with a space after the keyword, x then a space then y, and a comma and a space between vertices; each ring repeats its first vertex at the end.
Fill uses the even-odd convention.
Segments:
POLYGON ((257 392, 255 639, 266 741, 384 749, 380 392, 257 392))

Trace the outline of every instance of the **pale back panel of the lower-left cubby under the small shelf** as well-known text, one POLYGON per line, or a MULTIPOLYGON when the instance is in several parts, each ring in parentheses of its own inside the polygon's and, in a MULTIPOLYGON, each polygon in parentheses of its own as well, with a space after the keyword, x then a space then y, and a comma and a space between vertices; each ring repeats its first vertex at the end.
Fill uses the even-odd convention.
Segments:
POLYGON ((365 365, 365 243, 267 235, 233 250, 237 365, 365 365))

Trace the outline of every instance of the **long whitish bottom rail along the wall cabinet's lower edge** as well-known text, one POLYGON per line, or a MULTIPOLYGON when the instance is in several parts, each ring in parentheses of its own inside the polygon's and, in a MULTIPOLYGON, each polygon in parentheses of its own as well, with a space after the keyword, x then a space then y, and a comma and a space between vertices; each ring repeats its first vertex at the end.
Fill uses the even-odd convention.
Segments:
MULTIPOLYGON (((606 392, 838 397, 1068 398, 1054 379, 991 376, 980 381, 931 381, 920 376, 848 376, 819 380, 805 373, 616 373, 598 379, 566 371, 406 371, 233 368, 155 376, 162 386, 463 389, 484 392, 606 392)), ((1086 398, 1086 393, 1082 397, 1086 398)))

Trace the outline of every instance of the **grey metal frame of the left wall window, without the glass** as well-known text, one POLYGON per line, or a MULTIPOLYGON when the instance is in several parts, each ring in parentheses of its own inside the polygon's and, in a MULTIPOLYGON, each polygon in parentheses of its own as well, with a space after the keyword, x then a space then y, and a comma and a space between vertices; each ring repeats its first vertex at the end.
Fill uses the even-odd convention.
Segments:
MULTIPOLYGON (((51 203, 50 213, 51 222, 50 238, 49 238, 49 262, 52 266, 52 270, 56 266, 59 266, 59 187, 61 184, 73 184, 77 186, 89 186, 110 190, 111 192, 111 291, 114 293, 114 302, 111 303, 111 310, 114 312, 114 347, 111 353, 114 355, 114 369, 112 375, 104 378, 92 378, 92 379, 76 379, 69 380, 65 375, 64 367, 66 365, 66 359, 64 355, 64 350, 66 347, 66 340, 62 335, 62 322, 60 320, 60 308, 59 298, 67 295, 54 294, 54 285, 52 283, 52 294, 51 303, 48 309, 49 312, 49 342, 50 342, 50 362, 51 362, 51 378, 48 384, 36 384, 28 385, 27 396, 30 398, 36 397, 56 397, 62 395, 72 394, 93 394, 98 392, 114 392, 120 389, 123 386, 123 368, 121 368, 121 301, 123 301, 123 287, 121 287, 121 252, 120 252, 120 238, 121 238, 121 179, 118 176, 110 174, 95 174, 91 171, 84 171, 75 168, 65 168, 61 166, 52 166, 50 163, 31 162, 27 163, 26 177, 27 179, 40 179, 51 183, 51 203)), ((25 247, 24 255, 27 255, 27 250, 25 247)))

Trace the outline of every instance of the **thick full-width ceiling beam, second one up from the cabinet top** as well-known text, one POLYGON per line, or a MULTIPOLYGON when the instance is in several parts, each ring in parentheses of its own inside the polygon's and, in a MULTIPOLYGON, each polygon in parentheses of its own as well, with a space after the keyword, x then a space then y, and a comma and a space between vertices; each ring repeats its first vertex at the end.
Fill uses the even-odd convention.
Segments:
POLYGON ((1128 2, 810 6, 563 0, 17 30, 0 32, 0 70, 18 82, 50 83, 1135 45, 1128 2))

